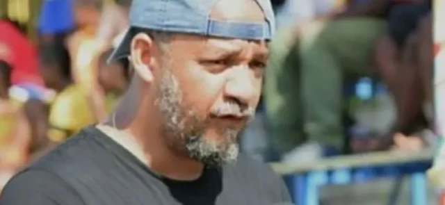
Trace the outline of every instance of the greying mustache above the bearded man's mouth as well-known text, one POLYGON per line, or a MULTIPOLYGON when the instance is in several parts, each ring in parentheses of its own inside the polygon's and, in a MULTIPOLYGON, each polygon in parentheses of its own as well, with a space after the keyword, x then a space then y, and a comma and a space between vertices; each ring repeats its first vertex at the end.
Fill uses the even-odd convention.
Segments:
POLYGON ((225 101, 210 110, 210 114, 214 117, 252 117, 254 116, 254 113, 254 108, 243 105, 238 101, 225 101))

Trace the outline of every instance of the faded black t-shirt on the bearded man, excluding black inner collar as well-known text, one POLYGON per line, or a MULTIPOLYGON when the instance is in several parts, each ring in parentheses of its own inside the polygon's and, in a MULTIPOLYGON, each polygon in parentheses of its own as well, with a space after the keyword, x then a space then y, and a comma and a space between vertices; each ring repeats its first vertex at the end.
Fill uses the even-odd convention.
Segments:
POLYGON ((195 181, 159 177, 93 126, 19 172, 0 205, 272 205, 290 202, 282 179, 240 155, 195 181))

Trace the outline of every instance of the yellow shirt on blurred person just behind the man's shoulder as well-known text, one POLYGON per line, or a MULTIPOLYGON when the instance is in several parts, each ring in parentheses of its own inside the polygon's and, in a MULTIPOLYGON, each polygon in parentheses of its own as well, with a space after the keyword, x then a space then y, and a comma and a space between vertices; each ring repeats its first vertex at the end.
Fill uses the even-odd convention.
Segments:
MULTIPOLYGON (((118 102, 115 95, 107 95, 106 110, 113 110, 118 102)), ((49 110, 48 137, 53 142, 62 142, 84 126, 94 124, 95 117, 90 110, 85 90, 79 85, 70 85, 54 99, 49 110)))

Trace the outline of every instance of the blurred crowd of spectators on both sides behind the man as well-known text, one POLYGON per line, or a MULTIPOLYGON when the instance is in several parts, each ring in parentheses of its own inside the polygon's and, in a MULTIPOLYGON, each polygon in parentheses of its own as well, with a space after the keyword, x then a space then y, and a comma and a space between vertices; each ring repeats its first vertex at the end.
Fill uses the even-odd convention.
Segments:
MULTIPOLYGON (((0 175, 100 122, 129 83, 106 63, 131 0, 0 0, 0 175)), ((257 117, 263 161, 435 144, 429 0, 272 0, 277 34, 257 117)))

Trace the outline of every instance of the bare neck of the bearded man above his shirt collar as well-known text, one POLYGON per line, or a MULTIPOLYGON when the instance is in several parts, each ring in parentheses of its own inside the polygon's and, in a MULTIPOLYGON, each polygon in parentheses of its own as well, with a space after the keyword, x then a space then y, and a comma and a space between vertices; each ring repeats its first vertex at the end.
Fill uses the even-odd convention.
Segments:
POLYGON ((145 163, 153 172, 183 181, 200 177, 204 165, 184 154, 172 151, 160 134, 159 123, 154 121, 146 123, 146 119, 156 119, 148 117, 156 116, 156 113, 144 114, 137 111, 131 116, 126 109, 133 106, 124 105, 125 103, 123 101, 120 104, 115 111, 116 114, 112 115, 108 123, 99 125, 98 128, 145 163))

